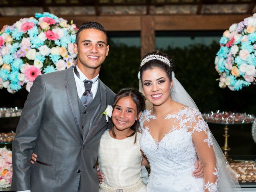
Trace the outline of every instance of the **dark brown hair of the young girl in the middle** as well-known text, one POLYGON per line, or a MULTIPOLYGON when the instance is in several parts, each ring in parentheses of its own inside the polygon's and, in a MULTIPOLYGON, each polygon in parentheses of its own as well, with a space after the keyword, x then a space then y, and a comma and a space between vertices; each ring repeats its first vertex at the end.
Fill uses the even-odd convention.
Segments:
MULTIPOLYGON (((146 109, 146 104, 145 104, 145 97, 142 95, 141 92, 139 92, 138 89, 135 88, 123 88, 121 89, 115 96, 114 98, 114 105, 113 105, 113 109, 116 107, 117 102, 124 97, 130 97, 132 98, 132 100, 134 101, 135 105, 136 105, 136 109, 137 109, 137 119, 139 120, 139 114, 140 112, 143 112, 146 109)), ((134 130, 134 132, 132 134, 130 134, 128 137, 133 136, 134 134, 136 134, 137 130, 138 130, 138 126, 139 126, 139 121, 135 121, 134 124, 131 126, 131 130, 134 130)), ((112 122, 112 126, 111 126, 111 132, 114 136, 114 138, 116 138, 116 134, 114 132, 113 129, 113 122, 112 122)), ((137 134, 135 136, 134 139, 134 144, 136 143, 136 139, 137 139, 137 134)))

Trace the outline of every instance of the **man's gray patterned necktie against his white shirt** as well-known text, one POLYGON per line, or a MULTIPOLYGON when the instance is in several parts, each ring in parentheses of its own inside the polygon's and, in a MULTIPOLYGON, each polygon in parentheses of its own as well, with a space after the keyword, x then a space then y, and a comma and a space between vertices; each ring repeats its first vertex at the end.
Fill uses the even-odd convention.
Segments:
MULTIPOLYGON (((76 76, 80 79, 80 75, 79 75, 79 72, 76 69, 76 67, 74 67, 74 72, 75 72, 76 76)), ((84 108, 86 108, 90 105, 90 103, 93 100, 92 92, 91 92, 92 81, 84 80, 84 88, 85 88, 85 91, 84 91, 82 97, 80 98, 80 100, 81 100, 84 108)))

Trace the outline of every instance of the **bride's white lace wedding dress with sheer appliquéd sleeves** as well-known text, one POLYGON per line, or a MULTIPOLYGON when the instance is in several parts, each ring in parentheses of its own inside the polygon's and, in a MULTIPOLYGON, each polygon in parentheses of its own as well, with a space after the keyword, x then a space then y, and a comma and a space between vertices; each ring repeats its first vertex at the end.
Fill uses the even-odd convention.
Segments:
POLYGON ((200 112, 184 107, 163 120, 170 124, 170 131, 157 141, 150 134, 150 122, 156 120, 151 110, 140 117, 140 148, 148 158, 151 173, 149 191, 217 192, 218 167, 211 132, 200 112), (196 158, 204 167, 204 180, 192 177, 196 158), (204 182, 205 181, 205 182, 204 182))

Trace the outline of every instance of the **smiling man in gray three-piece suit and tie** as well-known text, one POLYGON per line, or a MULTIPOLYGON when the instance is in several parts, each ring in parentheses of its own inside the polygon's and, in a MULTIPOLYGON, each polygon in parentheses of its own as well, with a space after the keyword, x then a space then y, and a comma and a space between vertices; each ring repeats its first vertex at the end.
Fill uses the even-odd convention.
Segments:
POLYGON ((98 147, 110 126, 101 114, 115 95, 98 78, 108 49, 103 26, 84 23, 74 44, 77 66, 36 78, 13 142, 12 190, 98 192, 98 147))

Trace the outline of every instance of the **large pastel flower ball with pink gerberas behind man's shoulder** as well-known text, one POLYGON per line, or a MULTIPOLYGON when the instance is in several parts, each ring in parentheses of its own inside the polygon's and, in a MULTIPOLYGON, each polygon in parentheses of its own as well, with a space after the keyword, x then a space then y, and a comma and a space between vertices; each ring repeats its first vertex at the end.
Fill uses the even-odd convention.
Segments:
POLYGON ((0 88, 28 92, 38 75, 76 65, 76 25, 54 14, 36 13, 0 32, 0 88))

